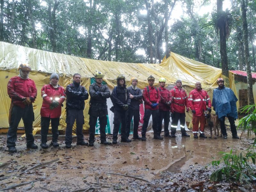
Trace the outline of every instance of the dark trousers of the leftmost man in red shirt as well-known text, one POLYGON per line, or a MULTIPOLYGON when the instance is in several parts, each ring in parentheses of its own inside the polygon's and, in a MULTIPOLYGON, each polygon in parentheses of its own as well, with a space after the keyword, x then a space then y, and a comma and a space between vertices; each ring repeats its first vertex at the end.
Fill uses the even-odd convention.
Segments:
POLYGON ((25 127, 27 145, 31 145, 34 143, 34 137, 32 132, 35 116, 32 104, 26 105, 25 108, 14 105, 12 107, 11 123, 7 132, 7 147, 12 147, 16 145, 15 142, 17 140, 17 130, 21 118, 25 127))

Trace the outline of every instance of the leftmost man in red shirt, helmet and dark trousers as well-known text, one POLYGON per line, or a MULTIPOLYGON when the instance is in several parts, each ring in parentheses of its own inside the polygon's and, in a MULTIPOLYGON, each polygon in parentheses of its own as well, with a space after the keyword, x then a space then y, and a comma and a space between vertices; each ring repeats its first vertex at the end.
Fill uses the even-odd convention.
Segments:
POLYGON ((27 148, 37 149, 32 134, 33 121, 35 120, 32 103, 34 103, 37 95, 36 84, 28 78, 31 68, 27 64, 20 64, 18 70, 19 76, 12 77, 7 84, 7 93, 11 98, 10 126, 7 132, 7 147, 10 153, 17 152, 15 142, 21 118, 25 127, 27 148))

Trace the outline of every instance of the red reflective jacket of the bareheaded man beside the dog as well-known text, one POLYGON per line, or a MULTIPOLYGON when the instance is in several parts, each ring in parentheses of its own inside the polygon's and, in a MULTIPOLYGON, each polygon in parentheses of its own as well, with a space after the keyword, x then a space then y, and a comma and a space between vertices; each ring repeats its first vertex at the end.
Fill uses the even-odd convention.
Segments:
POLYGON ((200 91, 197 91, 197 89, 193 89, 189 93, 188 98, 188 105, 191 110, 195 110, 196 113, 194 113, 194 116, 202 116, 203 109, 206 110, 206 100, 208 101, 208 107, 212 107, 212 103, 210 100, 210 97, 206 91, 201 89, 200 91))

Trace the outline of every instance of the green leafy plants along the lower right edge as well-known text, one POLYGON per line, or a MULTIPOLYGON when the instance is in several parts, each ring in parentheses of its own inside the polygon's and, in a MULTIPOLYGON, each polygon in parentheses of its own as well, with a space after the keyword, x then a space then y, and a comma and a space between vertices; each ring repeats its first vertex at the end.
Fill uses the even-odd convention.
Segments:
MULTIPOLYGON (((253 126, 256 121, 255 106, 256 105, 244 106, 240 110, 240 112, 248 114, 238 121, 238 127, 242 126, 243 132, 246 130, 251 130, 254 133, 256 132, 255 126, 253 126)), ((212 161, 212 166, 218 169, 221 162, 224 163, 224 166, 213 172, 210 179, 212 181, 221 181, 224 179, 239 180, 241 183, 256 180, 255 146, 256 138, 254 139, 253 144, 243 152, 239 152, 238 150, 236 150, 235 153, 233 153, 232 149, 229 153, 221 151, 220 154, 222 155, 222 157, 220 158, 220 160, 212 161)))

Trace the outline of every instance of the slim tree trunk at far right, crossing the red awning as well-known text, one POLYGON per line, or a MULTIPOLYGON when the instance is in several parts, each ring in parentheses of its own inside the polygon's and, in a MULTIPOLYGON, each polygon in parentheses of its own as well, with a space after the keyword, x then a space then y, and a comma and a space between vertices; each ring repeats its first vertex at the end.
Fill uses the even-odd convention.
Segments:
POLYGON ((252 92, 252 71, 250 65, 250 54, 249 54, 249 43, 248 43, 248 26, 247 26, 247 19, 246 19, 246 12, 247 12, 247 4, 248 0, 241 0, 241 10, 242 10, 242 23, 243 23, 243 40, 244 40, 244 58, 246 63, 246 72, 247 72, 247 82, 248 82, 248 98, 249 98, 249 105, 254 105, 254 98, 252 92))

